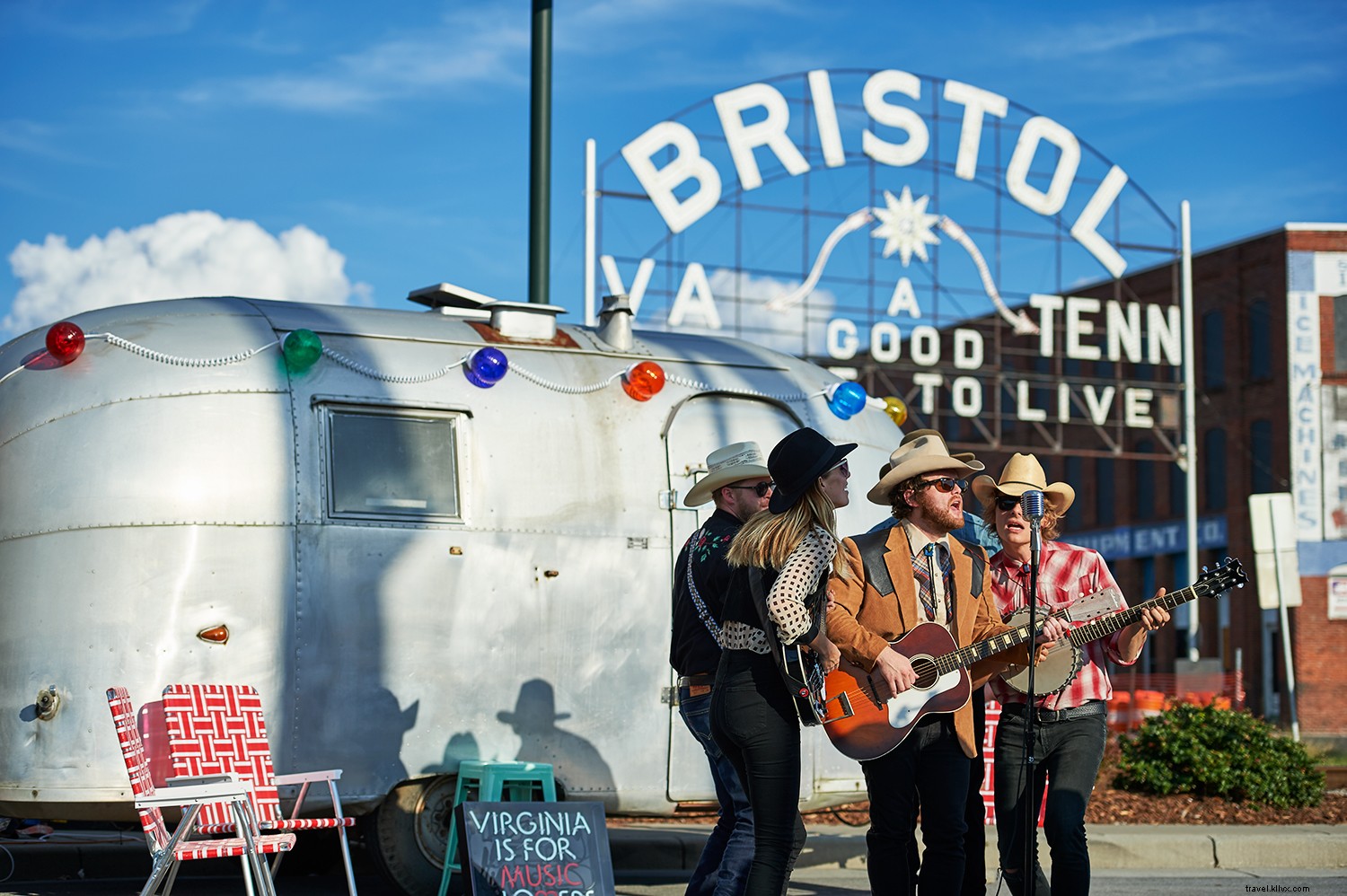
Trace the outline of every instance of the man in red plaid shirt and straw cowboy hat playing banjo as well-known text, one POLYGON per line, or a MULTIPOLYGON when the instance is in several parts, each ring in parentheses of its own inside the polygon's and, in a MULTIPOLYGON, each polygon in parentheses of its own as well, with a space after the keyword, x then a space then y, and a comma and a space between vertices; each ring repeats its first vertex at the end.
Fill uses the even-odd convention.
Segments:
MULTIPOLYGON (((1075 600, 1105 587, 1117 589, 1113 573, 1098 552, 1056 540, 1061 517, 1075 501, 1076 490, 1065 482, 1048 482, 1043 463, 1033 454, 1016 454, 1001 470, 1001 478, 979 476, 973 482, 973 493, 982 501, 983 519, 995 528, 1002 544, 989 567, 989 590, 997 612, 1005 616, 1028 606, 1032 528, 1021 500, 1029 490, 1043 492, 1044 503, 1039 523, 1037 605, 1044 612, 1065 609, 1075 600)), ((1160 589, 1157 597, 1162 594, 1164 589, 1160 589)), ((1030 699, 1002 678, 991 680, 991 691, 1001 701, 995 744, 997 846, 1006 884, 1014 896, 1025 892, 1022 757, 1026 713, 1034 714, 1034 807, 1040 806, 1044 777, 1049 764, 1052 767, 1043 825, 1052 849, 1052 892, 1055 896, 1088 893, 1086 804, 1103 759, 1109 736, 1107 701, 1113 697, 1105 663, 1136 663, 1146 633, 1168 621, 1169 613, 1162 608, 1146 608, 1138 622, 1086 644, 1080 648, 1080 671, 1052 694, 1030 699)), ((1034 690, 1040 690, 1037 684, 1034 690)), ((1041 868, 1034 868, 1033 892, 1048 892, 1041 868)))

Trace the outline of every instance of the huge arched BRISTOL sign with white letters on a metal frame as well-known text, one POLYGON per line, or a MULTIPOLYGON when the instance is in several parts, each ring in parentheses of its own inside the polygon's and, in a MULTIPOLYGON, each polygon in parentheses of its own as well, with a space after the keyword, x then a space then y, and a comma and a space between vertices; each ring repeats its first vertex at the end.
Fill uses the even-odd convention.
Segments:
POLYGON ((1173 222, 994 90, 769 78, 648 125, 598 186, 599 288, 638 326, 884 369, 928 422, 1177 428, 1177 302, 1076 291, 1173 263, 1173 222))

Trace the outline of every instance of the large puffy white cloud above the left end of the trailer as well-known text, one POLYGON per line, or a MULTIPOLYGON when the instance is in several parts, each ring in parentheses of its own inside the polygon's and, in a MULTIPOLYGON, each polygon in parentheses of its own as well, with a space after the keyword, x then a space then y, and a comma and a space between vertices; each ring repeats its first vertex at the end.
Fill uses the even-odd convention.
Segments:
POLYGON ((48 234, 9 255, 23 286, 0 331, 18 334, 78 311, 190 295, 368 305, 369 286, 352 284, 345 264, 306 226, 272 236, 253 221, 214 212, 170 214, 74 248, 65 236, 48 234))

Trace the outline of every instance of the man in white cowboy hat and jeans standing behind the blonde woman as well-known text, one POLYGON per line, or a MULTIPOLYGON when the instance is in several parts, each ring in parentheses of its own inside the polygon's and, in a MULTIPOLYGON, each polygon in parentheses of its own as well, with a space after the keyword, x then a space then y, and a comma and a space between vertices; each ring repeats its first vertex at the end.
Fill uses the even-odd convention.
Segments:
POLYGON ((734 765, 711 738, 711 684, 721 662, 721 614, 730 582, 725 552, 744 523, 766 509, 772 474, 756 442, 711 451, 707 473, 683 504, 715 503, 715 512, 688 539, 674 566, 674 637, 669 666, 679 674, 679 714, 711 767, 721 815, 692 870, 687 896, 737 896, 753 864, 753 810, 734 765))

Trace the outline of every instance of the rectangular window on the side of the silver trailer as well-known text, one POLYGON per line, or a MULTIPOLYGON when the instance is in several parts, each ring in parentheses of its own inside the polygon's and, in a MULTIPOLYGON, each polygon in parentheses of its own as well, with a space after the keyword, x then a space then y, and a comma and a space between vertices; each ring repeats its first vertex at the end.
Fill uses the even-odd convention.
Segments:
POLYGON ((327 507, 353 519, 457 520, 457 418, 327 408, 327 507))

